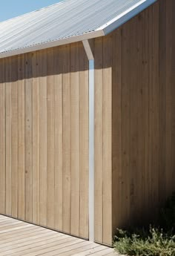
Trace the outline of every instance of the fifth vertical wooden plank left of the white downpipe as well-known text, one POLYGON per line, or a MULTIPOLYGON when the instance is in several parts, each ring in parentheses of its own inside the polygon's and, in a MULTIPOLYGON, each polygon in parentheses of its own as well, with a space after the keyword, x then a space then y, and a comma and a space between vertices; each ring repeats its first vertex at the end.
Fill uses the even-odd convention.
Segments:
POLYGON ((54 227, 55 165, 54 165, 54 77, 53 49, 47 51, 47 226, 54 227))

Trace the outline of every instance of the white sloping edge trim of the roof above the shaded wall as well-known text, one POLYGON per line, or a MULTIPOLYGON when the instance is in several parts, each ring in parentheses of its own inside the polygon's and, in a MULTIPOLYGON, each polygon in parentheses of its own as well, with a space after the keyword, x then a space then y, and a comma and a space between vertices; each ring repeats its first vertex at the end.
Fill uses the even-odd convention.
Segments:
POLYGON ((103 30, 106 36, 108 35, 108 33, 112 32, 113 30, 116 30, 117 27, 120 27, 125 22, 128 22, 128 20, 132 19, 134 16, 141 13, 142 10, 145 10, 147 7, 149 7, 156 1, 157 0, 139 1, 139 3, 134 4, 133 7, 129 8, 124 13, 121 13, 119 16, 116 16, 116 18, 112 19, 110 22, 106 23, 102 27, 99 27, 96 31, 103 30))

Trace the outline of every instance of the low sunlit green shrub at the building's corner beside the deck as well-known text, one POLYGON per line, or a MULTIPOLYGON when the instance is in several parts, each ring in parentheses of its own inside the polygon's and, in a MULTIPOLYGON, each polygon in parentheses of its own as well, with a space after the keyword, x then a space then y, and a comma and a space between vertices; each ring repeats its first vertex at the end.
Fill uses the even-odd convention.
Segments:
POLYGON ((145 232, 130 234, 118 229, 114 248, 123 255, 175 256, 175 236, 163 234, 162 230, 151 228, 145 232))

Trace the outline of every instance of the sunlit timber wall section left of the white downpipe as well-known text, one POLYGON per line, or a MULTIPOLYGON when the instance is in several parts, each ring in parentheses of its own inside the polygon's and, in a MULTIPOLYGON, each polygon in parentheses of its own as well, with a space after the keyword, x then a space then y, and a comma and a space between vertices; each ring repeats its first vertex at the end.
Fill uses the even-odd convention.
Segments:
POLYGON ((82 43, 1 59, 0 104, 1 214, 88 238, 82 43))

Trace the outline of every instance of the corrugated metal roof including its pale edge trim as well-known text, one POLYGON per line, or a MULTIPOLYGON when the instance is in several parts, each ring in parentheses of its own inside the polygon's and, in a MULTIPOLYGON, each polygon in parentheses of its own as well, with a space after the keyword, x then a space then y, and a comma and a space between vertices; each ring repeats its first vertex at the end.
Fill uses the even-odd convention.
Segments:
POLYGON ((0 58, 105 36, 156 0, 66 0, 0 22, 0 58))

